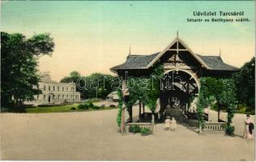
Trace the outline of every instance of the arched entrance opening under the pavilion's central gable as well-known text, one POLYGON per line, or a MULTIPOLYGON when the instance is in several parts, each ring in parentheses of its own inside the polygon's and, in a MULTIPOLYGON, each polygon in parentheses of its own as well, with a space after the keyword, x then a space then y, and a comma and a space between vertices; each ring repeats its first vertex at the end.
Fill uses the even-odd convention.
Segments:
POLYGON ((160 96, 161 117, 175 117, 179 122, 185 120, 190 102, 197 96, 199 88, 199 79, 192 70, 167 70, 160 96))

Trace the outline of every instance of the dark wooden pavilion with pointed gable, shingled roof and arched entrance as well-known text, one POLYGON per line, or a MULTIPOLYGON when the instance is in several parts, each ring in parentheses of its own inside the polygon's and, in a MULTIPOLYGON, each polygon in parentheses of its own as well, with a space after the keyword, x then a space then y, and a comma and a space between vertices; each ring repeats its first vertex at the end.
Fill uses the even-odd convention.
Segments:
MULTIPOLYGON (((179 100, 182 110, 188 110, 189 97, 197 95, 201 77, 228 78, 238 70, 237 67, 223 62, 220 56, 204 56, 194 53, 178 37, 178 34, 163 51, 150 55, 129 54, 125 63, 113 66, 110 70, 122 77, 125 77, 127 72, 130 76, 147 76, 156 62, 164 65, 164 79, 172 77, 171 88, 164 84, 165 87, 160 96, 161 115, 166 106, 176 99, 179 100)), ((139 112, 141 112, 140 104, 139 112)))

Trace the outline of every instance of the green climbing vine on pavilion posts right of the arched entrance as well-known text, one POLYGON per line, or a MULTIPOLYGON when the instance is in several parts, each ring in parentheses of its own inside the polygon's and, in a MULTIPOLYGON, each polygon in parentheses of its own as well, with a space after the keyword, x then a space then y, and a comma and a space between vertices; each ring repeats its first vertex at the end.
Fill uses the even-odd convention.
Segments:
MULTIPOLYGON (((203 128, 204 125, 204 112, 203 109, 213 104, 216 100, 218 104, 227 108, 228 122, 226 127, 226 134, 233 135, 235 130, 231 126, 232 119, 235 113, 236 96, 234 92, 235 86, 233 79, 216 79, 216 78, 202 78, 201 89, 198 93, 198 124, 203 128)), ((220 106, 218 111, 220 111, 220 106)), ((218 117, 219 119, 219 117, 218 117)))

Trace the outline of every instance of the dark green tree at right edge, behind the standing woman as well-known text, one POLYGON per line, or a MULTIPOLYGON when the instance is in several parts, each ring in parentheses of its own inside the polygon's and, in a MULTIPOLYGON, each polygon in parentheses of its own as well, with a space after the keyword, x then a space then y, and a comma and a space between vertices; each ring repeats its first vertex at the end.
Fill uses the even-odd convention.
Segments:
POLYGON ((255 58, 246 62, 235 75, 233 75, 236 86, 237 100, 250 107, 255 104, 255 58))

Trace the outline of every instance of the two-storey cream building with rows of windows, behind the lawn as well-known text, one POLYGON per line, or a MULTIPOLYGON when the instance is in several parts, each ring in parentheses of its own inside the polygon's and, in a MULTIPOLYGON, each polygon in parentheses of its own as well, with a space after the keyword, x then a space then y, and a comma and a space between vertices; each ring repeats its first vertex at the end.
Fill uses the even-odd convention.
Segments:
POLYGON ((79 102, 80 92, 75 92, 75 83, 57 83, 54 81, 39 82, 41 94, 34 96, 32 104, 60 104, 79 102))

